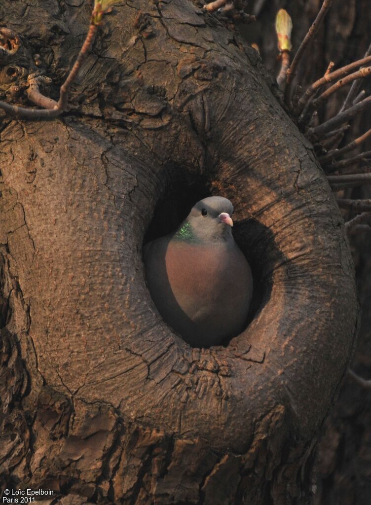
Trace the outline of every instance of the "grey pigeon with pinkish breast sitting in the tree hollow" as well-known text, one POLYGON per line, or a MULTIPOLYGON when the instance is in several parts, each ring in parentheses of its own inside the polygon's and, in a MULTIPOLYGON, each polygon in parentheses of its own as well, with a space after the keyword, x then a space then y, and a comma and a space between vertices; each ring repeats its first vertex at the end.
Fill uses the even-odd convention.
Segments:
POLYGON ((151 296, 163 319, 193 347, 219 345, 247 321, 253 280, 232 235, 227 198, 200 200, 179 228, 146 244, 151 296))

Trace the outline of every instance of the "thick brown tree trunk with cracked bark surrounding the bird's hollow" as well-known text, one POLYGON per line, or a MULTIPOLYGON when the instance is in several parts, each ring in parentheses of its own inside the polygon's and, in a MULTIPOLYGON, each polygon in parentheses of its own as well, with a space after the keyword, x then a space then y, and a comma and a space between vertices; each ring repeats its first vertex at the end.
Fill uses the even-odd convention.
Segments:
MULTIPOLYGON (((18 35, 0 50, 3 94, 35 54, 56 93, 88 6, 1 9, 18 35)), ((357 301, 343 220, 276 95, 213 15, 127 2, 67 114, 3 119, 3 488, 65 504, 311 503, 357 301), (157 314, 141 248, 208 194, 233 200, 258 287, 241 335, 192 349, 157 314)))

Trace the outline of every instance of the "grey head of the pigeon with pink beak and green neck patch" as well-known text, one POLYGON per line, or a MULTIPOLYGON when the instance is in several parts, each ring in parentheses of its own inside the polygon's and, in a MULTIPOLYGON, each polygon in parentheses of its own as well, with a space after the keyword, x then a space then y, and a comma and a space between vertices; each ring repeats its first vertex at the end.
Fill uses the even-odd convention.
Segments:
POLYGON ((222 196, 209 196, 198 201, 176 232, 176 238, 197 241, 229 240, 232 238, 233 205, 222 196))

